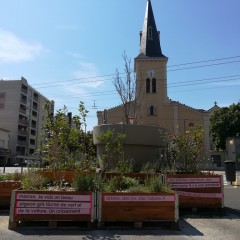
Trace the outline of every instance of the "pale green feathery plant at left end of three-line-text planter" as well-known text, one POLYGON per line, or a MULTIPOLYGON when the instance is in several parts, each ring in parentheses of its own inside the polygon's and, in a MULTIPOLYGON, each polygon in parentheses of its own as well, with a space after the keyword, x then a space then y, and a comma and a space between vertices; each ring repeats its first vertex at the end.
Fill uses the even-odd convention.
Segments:
POLYGON ((25 190, 40 190, 47 186, 48 180, 34 170, 24 172, 21 178, 21 187, 25 190))

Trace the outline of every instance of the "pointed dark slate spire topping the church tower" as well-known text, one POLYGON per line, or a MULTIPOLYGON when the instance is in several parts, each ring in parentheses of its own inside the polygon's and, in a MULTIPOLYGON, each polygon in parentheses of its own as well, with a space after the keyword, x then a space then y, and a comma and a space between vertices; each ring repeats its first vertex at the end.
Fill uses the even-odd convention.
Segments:
POLYGON ((159 32, 157 31, 152 4, 147 0, 146 14, 143 30, 140 32, 140 51, 137 58, 141 57, 165 57, 162 54, 159 32))

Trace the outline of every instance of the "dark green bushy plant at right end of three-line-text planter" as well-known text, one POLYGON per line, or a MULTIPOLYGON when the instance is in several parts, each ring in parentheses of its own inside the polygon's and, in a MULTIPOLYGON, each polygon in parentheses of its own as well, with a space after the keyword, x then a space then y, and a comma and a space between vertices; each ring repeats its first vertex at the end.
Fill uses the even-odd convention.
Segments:
POLYGON ((94 191, 96 189, 95 177, 90 174, 78 175, 74 178, 72 187, 81 192, 94 191))

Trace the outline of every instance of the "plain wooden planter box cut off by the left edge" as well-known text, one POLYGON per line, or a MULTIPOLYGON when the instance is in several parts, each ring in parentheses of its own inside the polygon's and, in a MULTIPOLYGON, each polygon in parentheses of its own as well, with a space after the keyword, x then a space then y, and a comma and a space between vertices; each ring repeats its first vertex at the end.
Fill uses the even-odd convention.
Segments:
POLYGON ((9 207, 12 190, 21 187, 19 181, 2 181, 0 182, 0 207, 9 207))

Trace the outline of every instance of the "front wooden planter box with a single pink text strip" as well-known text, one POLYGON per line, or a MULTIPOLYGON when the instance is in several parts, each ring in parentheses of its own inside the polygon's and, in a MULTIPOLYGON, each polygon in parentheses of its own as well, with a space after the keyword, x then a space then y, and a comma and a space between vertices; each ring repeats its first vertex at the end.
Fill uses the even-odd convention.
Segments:
POLYGON ((100 193, 98 221, 143 223, 165 221, 178 224, 178 196, 175 193, 100 193))

